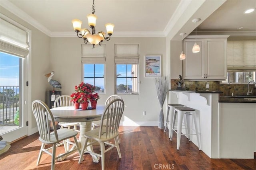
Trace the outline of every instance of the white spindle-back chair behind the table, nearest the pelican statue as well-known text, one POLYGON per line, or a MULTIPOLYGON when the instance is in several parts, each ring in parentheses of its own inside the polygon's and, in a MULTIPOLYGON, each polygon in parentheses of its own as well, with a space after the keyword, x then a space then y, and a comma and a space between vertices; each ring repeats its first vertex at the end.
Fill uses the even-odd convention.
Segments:
MULTIPOLYGON (((71 100, 72 100, 72 98, 69 95, 59 96, 54 101, 54 107, 74 106, 74 104, 71 100)), ((77 122, 74 122, 74 123, 73 122, 72 123, 59 122, 58 124, 60 125, 60 129, 67 127, 68 129, 78 131, 77 125, 79 125, 79 123, 77 123, 77 122), (71 128, 71 127, 74 127, 74 128, 71 128)))

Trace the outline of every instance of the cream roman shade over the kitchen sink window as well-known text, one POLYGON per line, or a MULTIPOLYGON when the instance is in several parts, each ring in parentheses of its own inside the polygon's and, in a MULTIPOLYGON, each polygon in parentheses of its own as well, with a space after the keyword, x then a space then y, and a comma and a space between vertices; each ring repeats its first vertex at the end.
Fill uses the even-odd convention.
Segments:
POLYGON ((228 70, 256 70, 256 41, 228 41, 228 70))

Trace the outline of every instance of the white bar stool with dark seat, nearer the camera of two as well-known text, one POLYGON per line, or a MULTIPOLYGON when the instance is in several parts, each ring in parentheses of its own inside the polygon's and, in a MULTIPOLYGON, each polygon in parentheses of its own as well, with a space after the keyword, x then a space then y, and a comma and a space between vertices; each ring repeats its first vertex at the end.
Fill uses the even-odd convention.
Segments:
POLYGON ((177 133, 177 150, 179 150, 180 148, 180 138, 181 135, 188 135, 188 138, 190 140, 190 135, 196 135, 197 138, 197 143, 198 143, 198 149, 201 150, 201 142, 200 142, 200 138, 199 138, 199 133, 198 133, 198 127, 197 127, 197 121, 196 121, 196 109, 190 108, 190 107, 174 107, 174 118, 172 121, 172 130, 171 130, 171 141, 172 141, 172 135, 173 135, 173 131, 175 133, 177 133), (174 129, 174 123, 176 120, 176 115, 178 113, 178 128, 177 131, 174 129), (187 134, 181 134, 181 129, 182 129, 182 118, 184 117, 184 115, 186 115, 186 121, 187 124, 190 124, 188 126, 188 132, 186 132, 187 134), (190 123, 188 123, 188 116, 191 115, 193 117, 194 120, 194 125, 195 125, 195 130, 196 133, 192 134, 192 119, 190 119, 190 123))

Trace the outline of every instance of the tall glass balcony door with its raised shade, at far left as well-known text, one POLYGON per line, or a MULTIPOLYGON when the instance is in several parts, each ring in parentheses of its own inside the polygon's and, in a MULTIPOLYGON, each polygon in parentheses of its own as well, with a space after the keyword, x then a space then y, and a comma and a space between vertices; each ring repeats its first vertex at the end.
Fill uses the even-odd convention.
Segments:
POLYGON ((0 124, 6 127, 0 135, 6 141, 15 141, 28 135, 26 121, 31 106, 24 103, 31 97, 26 86, 30 80, 31 31, 2 14, 0 28, 0 124))

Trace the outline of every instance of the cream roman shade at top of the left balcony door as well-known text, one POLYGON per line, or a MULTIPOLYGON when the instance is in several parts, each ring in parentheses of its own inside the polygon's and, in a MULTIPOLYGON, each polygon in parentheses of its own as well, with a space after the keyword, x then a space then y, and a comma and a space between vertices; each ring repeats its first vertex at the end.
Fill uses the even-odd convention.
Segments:
POLYGON ((28 47, 28 32, 0 18, 0 51, 25 58, 28 47))

